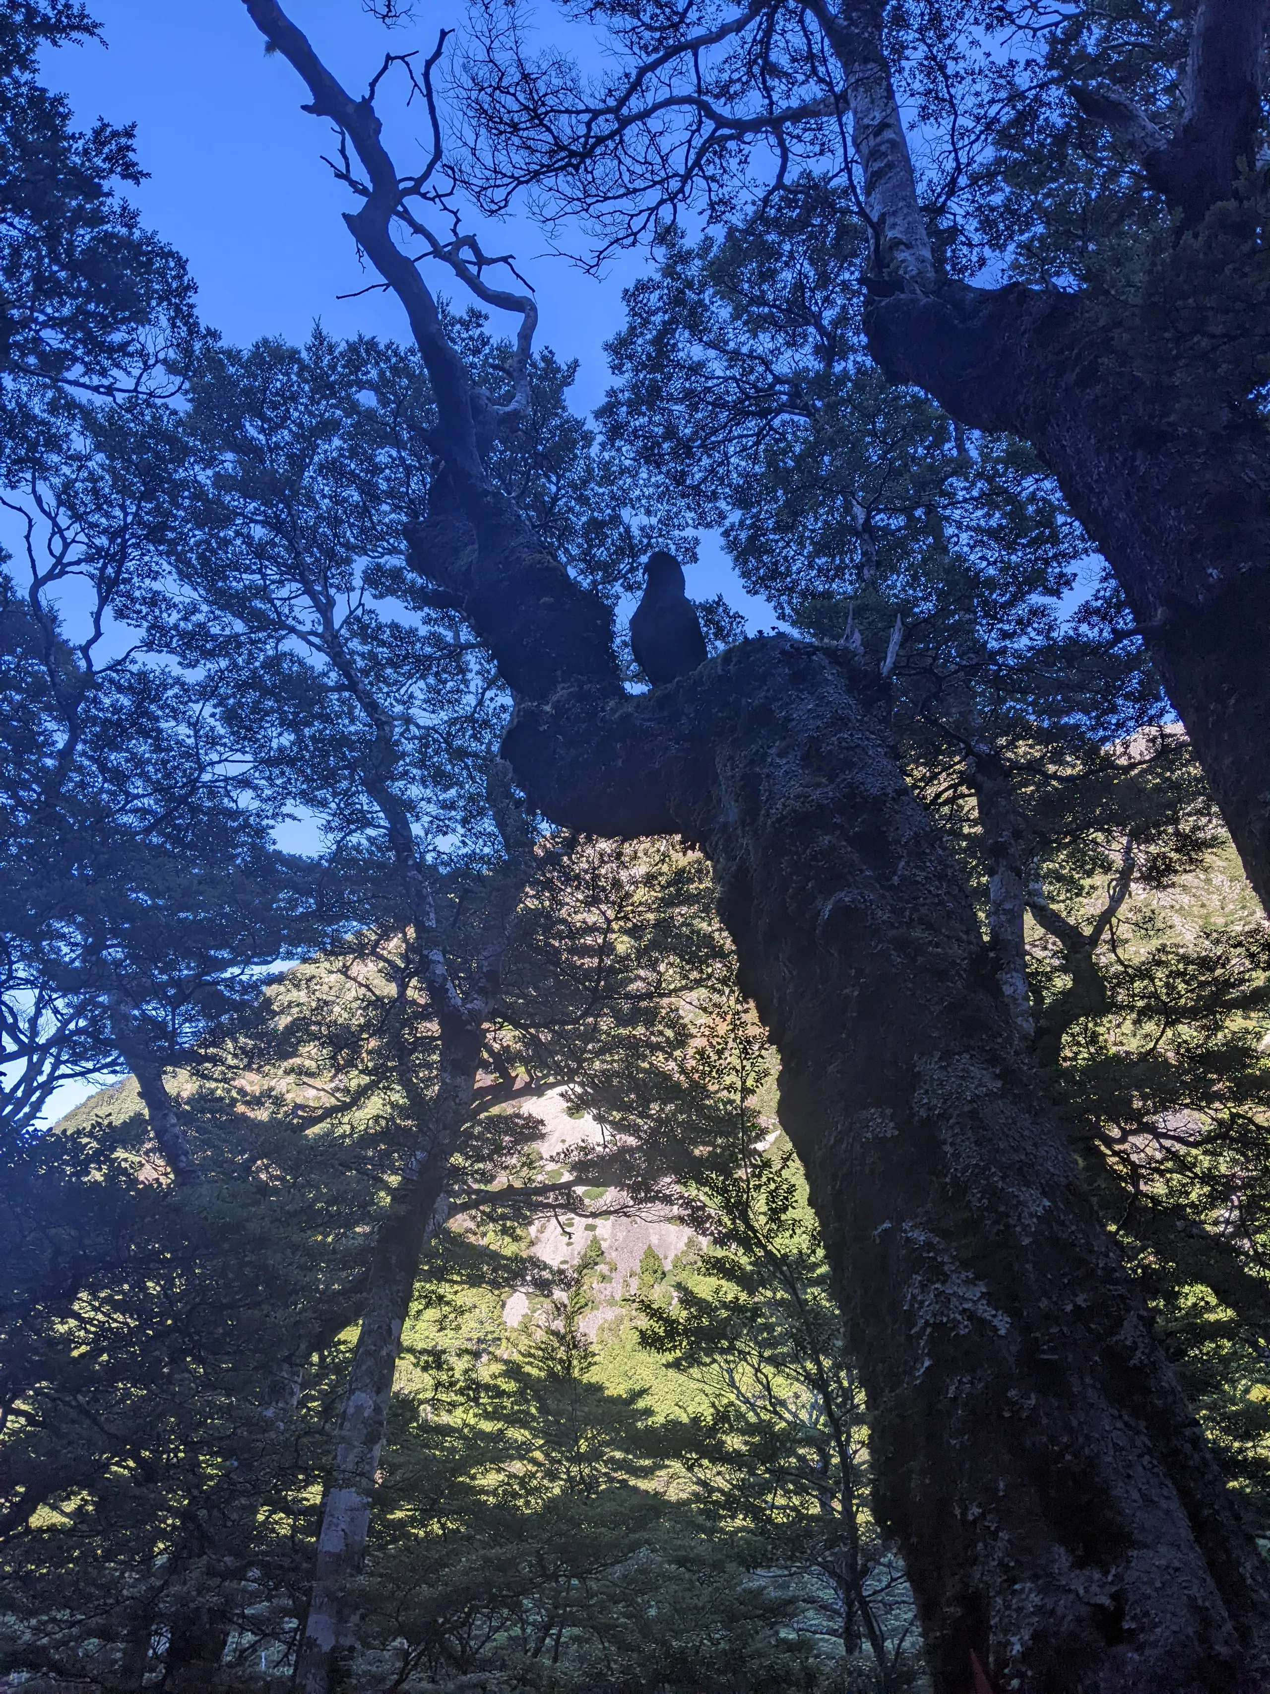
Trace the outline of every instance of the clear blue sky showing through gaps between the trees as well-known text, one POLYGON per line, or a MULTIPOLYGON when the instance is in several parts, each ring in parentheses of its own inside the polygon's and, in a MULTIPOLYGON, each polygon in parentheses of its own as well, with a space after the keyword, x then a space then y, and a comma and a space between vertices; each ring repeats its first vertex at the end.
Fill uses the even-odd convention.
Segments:
MULTIPOLYGON (((46 59, 83 124, 103 115, 135 122, 149 178, 132 198, 146 220, 190 261, 203 318, 230 340, 301 340, 315 320, 335 335, 405 335, 395 300, 371 293, 340 300, 374 278, 356 257, 340 213, 351 197, 320 154, 330 129, 300 110, 305 91, 286 61, 266 58, 240 0, 90 0, 105 46, 61 47, 46 59)), ((361 91, 388 49, 430 47, 442 22, 384 30, 361 0, 290 0, 296 24, 351 91, 361 91)), ((544 15, 549 15, 544 14, 544 15)), ((381 100, 405 168, 422 125, 391 95, 381 100)), ((483 246, 516 254, 538 296, 538 344, 577 359, 574 405, 605 395, 603 344, 623 320, 621 290, 647 263, 630 254, 599 278, 552 254, 532 222, 484 225, 483 246)), ((581 241, 579 241, 581 246, 581 241)), ((437 280, 430 278, 433 286, 437 280)), ((743 593, 713 537, 703 537, 689 593, 723 591, 755 627, 770 608, 743 593)))

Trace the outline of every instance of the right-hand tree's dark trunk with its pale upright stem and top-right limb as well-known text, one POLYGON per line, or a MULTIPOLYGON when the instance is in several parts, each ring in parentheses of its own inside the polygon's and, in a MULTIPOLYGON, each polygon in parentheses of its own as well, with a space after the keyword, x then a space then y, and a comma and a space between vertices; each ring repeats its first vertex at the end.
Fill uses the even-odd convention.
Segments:
MULTIPOLYGON (((1170 386, 1135 369, 1118 349, 1119 327, 1087 295, 977 290, 940 278, 930 242, 918 234, 921 207, 882 47, 882 8, 875 0, 808 3, 847 78, 865 210, 879 232, 865 313, 877 363, 894 381, 923 388, 957 422, 1009 430, 1036 449, 1116 573, 1248 879, 1270 911, 1263 418, 1250 398, 1231 396, 1195 420, 1185 374, 1170 386)), ((1233 195, 1241 166, 1251 163, 1268 17, 1270 0, 1201 0, 1177 134, 1170 139, 1131 113, 1146 137, 1145 181, 1187 225, 1233 195)), ((1099 100, 1080 93, 1087 110, 1091 98, 1099 100)), ((1102 120, 1109 122, 1107 112, 1102 120)), ((1256 241, 1250 227, 1248 256, 1256 241)), ((1219 298, 1212 305, 1221 310, 1219 298)))

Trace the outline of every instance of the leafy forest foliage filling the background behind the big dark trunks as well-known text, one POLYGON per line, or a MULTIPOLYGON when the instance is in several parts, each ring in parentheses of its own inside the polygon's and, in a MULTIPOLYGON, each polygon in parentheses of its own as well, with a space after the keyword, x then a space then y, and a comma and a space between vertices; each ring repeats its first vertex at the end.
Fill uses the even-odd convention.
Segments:
MULTIPOLYGON (((630 53, 681 27, 593 15, 630 53)), ((540 352, 486 461, 610 605, 654 542, 713 527, 748 590, 853 656, 974 886, 1019 1062, 1270 1536, 1265 923, 1053 479, 870 363, 877 230, 823 103, 840 73, 772 19, 757 58, 738 30, 701 75, 759 98, 754 134, 821 100, 789 119, 781 181, 711 144, 715 227, 660 227, 601 434, 540 352)), ((488 202, 528 159, 627 239, 693 188, 699 100, 652 141, 601 136, 579 178, 572 73, 479 20, 488 202)), ((1126 217, 1136 166, 1068 91, 1109 76, 1167 108, 1182 22, 899 7, 889 29, 940 266, 996 252, 1079 285, 1201 415, 1265 379, 1260 178, 1187 227, 1141 195, 1126 217)), ((179 259, 119 195, 130 132, 75 132, 37 81, 39 49, 91 29, 61 3, 0 20, 0 1664, 110 1694, 286 1679, 359 1321, 440 1149, 428 1230, 450 1226, 413 1303, 422 1230, 406 1264, 330 1686, 921 1686, 869 1406, 704 862, 527 815, 498 756, 513 700, 401 562, 437 468, 422 359, 198 332, 179 259), (47 1125, 59 1082, 127 1072, 47 1125), (650 1232, 637 1264, 618 1225, 650 1232)), ((444 322, 505 395, 484 318, 444 322)), ((723 605, 706 622, 740 635, 723 605)))

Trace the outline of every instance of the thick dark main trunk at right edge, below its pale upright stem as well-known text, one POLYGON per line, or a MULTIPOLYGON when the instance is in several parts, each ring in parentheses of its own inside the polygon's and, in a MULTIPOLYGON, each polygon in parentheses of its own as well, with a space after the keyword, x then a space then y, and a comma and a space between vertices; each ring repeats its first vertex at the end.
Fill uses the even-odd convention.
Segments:
POLYGON ((1111 564, 1270 910, 1270 434, 1180 420, 1080 296, 962 283, 869 312, 874 354, 958 422, 1031 442, 1111 564))

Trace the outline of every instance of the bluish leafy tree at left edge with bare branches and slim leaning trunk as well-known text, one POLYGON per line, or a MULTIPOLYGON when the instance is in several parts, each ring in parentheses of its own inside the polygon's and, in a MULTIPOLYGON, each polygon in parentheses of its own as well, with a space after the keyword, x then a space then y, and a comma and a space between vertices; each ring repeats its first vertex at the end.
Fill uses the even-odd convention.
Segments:
POLYGON ((58 1084, 132 1071, 164 1157, 195 1181, 164 1067, 342 915, 273 847, 200 679, 135 622, 120 634, 154 581, 120 462, 137 424, 117 422, 46 415, 25 486, 0 493, 22 535, 0 569, 0 1145, 34 1132, 58 1084))

